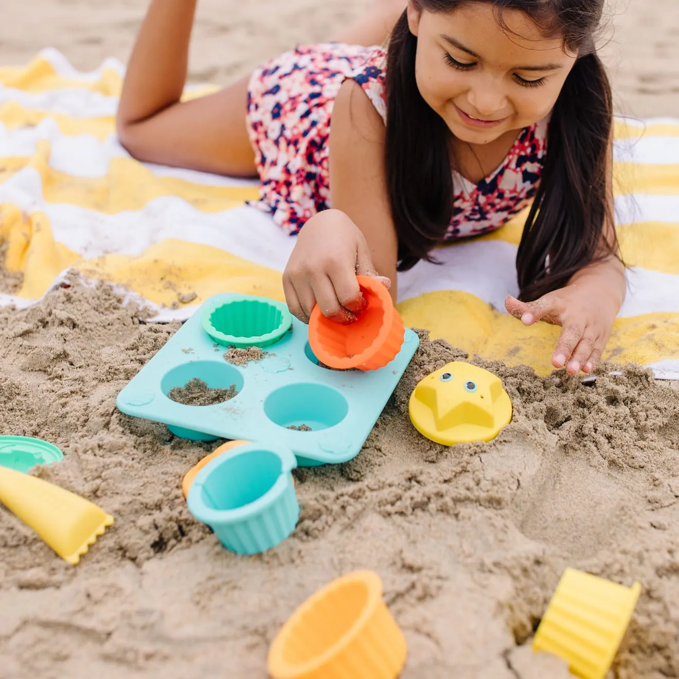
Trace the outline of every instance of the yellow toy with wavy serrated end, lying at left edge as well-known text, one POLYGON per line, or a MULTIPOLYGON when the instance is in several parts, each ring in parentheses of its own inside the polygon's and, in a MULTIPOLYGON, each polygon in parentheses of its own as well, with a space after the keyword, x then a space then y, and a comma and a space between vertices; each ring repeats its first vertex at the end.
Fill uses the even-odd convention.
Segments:
POLYGON ((69 564, 103 535, 113 517, 58 485, 0 467, 0 504, 30 526, 69 564))

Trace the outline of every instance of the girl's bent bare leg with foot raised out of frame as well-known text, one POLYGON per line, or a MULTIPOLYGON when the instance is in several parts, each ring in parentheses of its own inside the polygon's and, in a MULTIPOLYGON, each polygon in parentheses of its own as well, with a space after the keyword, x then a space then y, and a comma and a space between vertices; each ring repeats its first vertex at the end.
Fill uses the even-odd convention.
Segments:
POLYGON ((245 127, 246 82, 180 102, 196 0, 152 0, 120 97, 120 142, 139 160, 254 175, 245 127))

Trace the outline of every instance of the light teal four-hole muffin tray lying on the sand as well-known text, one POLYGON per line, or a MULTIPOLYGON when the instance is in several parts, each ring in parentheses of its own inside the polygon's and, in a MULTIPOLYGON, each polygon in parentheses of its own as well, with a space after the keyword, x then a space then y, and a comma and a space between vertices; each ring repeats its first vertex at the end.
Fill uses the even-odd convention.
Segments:
MULTIPOLYGON (((118 394, 118 409, 164 422, 176 436, 194 441, 272 441, 291 449, 300 466, 354 458, 418 348, 416 333, 406 329, 401 351, 383 368, 335 371, 318 365, 306 325, 291 318, 290 329, 267 346, 261 361, 232 365, 225 361, 225 346, 208 335, 201 319, 208 308, 243 299, 253 307, 257 301, 267 307, 279 305, 287 313, 285 305, 261 297, 231 293, 210 297, 118 394), (210 389, 234 386, 238 394, 223 403, 200 406, 168 398, 170 390, 194 378, 210 389)), ((213 314, 213 319, 220 316, 225 314, 213 314)), ((272 323, 279 324, 280 318, 274 316, 272 323)), ((243 327, 242 321, 239 324, 243 327)), ((261 323, 255 327, 267 330, 261 323)), ((229 328, 219 330, 230 335, 229 328)), ((254 344, 257 338, 252 339, 254 344)))

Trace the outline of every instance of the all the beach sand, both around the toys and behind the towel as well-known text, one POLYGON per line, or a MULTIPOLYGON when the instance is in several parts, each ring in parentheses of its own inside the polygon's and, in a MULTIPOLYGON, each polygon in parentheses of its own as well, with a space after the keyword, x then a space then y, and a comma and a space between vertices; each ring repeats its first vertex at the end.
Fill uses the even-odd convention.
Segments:
MULTIPOLYGON (((332 35, 365 4, 202 0, 192 78, 229 81, 332 35)), ((125 59, 144 7, 12 3, 0 62, 45 45, 82 69, 125 59)), ((606 58, 619 108, 677 115, 676 2, 630 0, 617 12, 606 58)), ((3 289, 16 285, 0 274, 3 289)), ((0 509, 1 679, 263 678, 289 614, 354 568, 382 576, 409 646, 403 678, 564 679, 562 663, 529 644, 566 566, 642 583, 611 676, 679 677, 679 391, 638 367, 604 367, 585 386, 469 357, 500 375, 515 416, 492 443, 445 448, 415 432, 407 399, 464 354, 423 335, 361 454, 295 471, 293 536, 237 557, 181 493, 182 475, 221 441, 183 441, 115 408, 178 327, 145 318, 107 285, 75 278, 30 310, 0 310, 0 433, 59 445, 64 462, 35 473, 115 516, 73 568, 0 509)))

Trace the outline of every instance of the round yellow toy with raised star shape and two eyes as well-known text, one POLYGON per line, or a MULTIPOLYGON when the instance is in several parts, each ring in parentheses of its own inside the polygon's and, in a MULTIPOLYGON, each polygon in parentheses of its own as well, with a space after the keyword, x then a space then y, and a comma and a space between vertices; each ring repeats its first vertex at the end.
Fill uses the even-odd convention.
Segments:
POLYGON ((512 416, 500 378, 462 361, 448 363, 421 380, 408 410, 420 434, 442 445, 490 441, 512 416))

